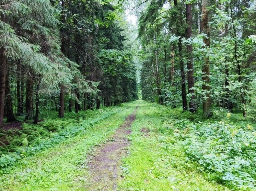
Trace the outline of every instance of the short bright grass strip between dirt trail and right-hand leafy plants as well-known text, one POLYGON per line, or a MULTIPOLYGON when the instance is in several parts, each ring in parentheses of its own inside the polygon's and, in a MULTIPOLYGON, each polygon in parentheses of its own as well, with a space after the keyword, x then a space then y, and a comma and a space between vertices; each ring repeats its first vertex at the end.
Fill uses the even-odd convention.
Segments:
POLYGON ((188 159, 187 142, 179 137, 180 134, 169 133, 173 128, 169 130, 172 124, 166 121, 176 118, 179 109, 170 110, 145 101, 140 106, 129 137, 130 154, 123 159, 124 178, 118 182, 119 191, 230 190, 212 180, 198 163, 188 159))

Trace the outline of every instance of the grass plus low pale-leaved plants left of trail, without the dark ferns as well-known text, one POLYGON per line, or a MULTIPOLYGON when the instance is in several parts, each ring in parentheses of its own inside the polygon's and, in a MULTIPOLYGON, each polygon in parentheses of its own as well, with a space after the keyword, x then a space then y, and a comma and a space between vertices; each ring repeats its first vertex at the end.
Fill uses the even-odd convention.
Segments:
POLYGON ((99 112, 89 111, 96 116, 69 125, 62 133, 41 139, 39 144, 29 145, 20 152, 22 159, 16 163, 11 161, 10 153, 3 155, 0 161, 6 166, 0 169, 0 190, 84 190, 89 180, 86 162, 93 147, 104 144, 136 105, 129 103, 99 112))

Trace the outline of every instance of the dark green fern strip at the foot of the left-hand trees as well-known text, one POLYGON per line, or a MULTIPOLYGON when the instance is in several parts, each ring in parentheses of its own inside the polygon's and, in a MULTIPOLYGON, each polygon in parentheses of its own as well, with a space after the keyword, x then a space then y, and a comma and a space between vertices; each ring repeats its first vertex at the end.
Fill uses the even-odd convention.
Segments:
MULTIPOLYGON (((0 156, 1 154, 7 154, 10 152, 19 151, 22 146, 24 137, 28 140, 28 145, 38 145, 41 142, 39 139, 50 138, 56 134, 61 134, 71 126, 81 126, 84 121, 93 121, 104 115, 109 115, 117 111, 119 107, 102 107, 100 110, 86 110, 75 112, 66 112, 65 118, 58 118, 56 111, 50 111, 48 113, 42 112, 40 119, 44 121, 39 122, 38 125, 32 124, 32 121, 26 121, 22 124, 22 129, 10 129, 2 130, 0 134, 0 156), (8 144, 4 144, 8 142, 8 144)), ((1 163, 1 162, 0 162, 1 163)), ((1 167, 1 164, 0 164, 1 167)))

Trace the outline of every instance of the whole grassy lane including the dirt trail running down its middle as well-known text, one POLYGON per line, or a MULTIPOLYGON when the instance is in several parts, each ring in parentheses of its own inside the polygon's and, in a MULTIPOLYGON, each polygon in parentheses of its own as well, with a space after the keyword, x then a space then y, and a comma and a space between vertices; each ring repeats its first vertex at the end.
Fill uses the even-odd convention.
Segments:
POLYGON ((184 144, 166 133, 163 106, 139 100, 124 106, 83 134, 1 172, 0 190, 230 190, 188 160, 184 144))

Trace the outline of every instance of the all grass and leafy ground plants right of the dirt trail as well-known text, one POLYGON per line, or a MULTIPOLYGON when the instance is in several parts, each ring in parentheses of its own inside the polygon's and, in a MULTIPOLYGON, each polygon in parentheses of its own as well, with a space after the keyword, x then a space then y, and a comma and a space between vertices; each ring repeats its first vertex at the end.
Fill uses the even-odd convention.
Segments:
POLYGON ((254 191, 256 124, 235 113, 225 116, 205 121, 201 111, 142 102, 132 125, 130 155, 123 160, 129 174, 119 188, 254 191))

